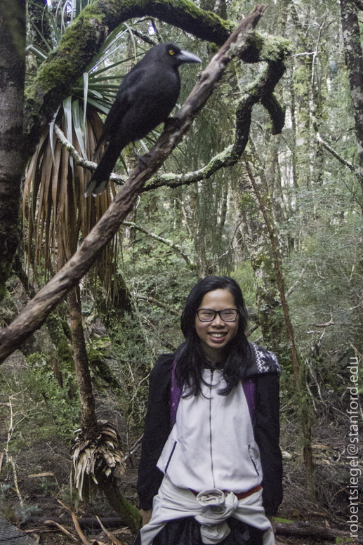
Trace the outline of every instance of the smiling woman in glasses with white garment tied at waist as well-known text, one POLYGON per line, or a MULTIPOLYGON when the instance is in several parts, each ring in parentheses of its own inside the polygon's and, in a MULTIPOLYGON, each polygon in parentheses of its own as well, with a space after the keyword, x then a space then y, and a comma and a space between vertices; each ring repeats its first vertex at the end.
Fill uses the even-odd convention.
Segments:
POLYGON ((273 545, 282 501, 279 365, 246 339, 241 289, 206 277, 185 342, 150 374, 138 477, 138 545, 273 545))

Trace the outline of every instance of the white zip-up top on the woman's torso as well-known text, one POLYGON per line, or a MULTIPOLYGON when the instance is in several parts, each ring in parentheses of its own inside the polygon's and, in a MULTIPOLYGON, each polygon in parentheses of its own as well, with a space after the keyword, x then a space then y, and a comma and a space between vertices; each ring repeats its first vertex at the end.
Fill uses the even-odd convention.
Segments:
POLYGON ((173 485, 196 492, 251 490, 260 485, 262 468, 242 383, 218 395, 226 386, 223 372, 204 369, 203 378, 204 395, 180 398, 157 467, 173 485))

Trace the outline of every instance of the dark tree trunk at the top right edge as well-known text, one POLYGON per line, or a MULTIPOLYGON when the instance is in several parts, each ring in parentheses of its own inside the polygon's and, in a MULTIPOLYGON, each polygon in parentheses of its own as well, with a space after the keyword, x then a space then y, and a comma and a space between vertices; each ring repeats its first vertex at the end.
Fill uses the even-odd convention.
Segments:
POLYGON ((363 190, 363 54, 357 8, 353 0, 341 0, 341 24, 363 190))

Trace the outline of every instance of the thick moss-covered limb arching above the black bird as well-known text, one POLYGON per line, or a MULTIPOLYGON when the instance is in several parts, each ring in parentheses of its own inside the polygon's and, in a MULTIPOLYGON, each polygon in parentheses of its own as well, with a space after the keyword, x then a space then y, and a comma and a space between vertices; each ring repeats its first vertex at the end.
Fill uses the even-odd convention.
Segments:
MULTIPOLYGON (((190 0, 98 0, 86 6, 67 28, 58 50, 44 61, 36 79, 25 93, 25 131, 29 157, 46 124, 62 100, 72 94, 72 86, 82 76, 110 32, 131 18, 150 16, 185 30, 195 37, 222 45, 235 28, 211 11, 203 11, 190 0)), ((247 63, 281 60, 284 48, 273 37, 254 33, 249 46, 239 52, 247 63)), ((286 50, 286 51, 285 51, 286 50)))

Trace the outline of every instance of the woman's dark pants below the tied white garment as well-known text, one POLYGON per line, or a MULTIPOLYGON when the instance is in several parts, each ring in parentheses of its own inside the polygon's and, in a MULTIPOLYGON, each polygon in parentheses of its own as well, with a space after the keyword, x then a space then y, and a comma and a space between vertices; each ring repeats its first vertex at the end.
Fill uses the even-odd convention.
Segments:
MULTIPOLYGON (((236 518, 229 518, 230 534, 220 545, 263 545, 263 531, 244 524, 236 518)), ((134 545, 140 545, 140 534, 134 545)), ((179 518, 166 523, 152 541, 152 545, 203 545, 200 525, 194 517, 179 518)))

